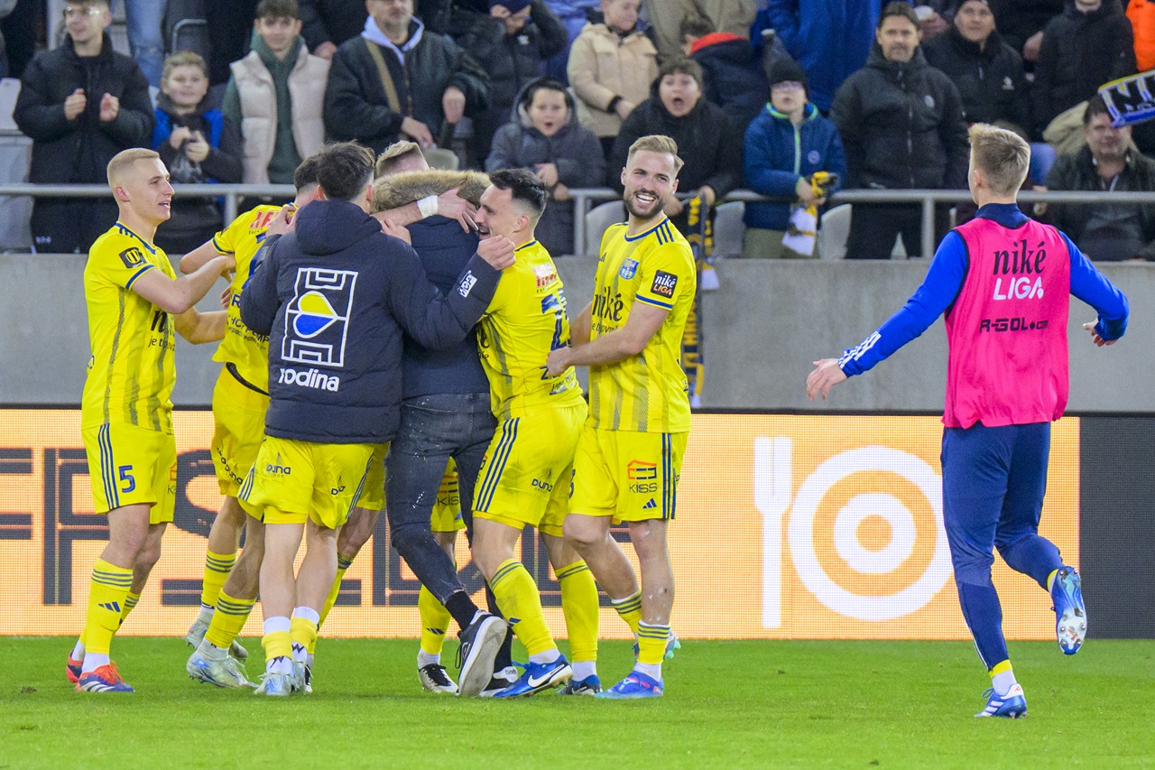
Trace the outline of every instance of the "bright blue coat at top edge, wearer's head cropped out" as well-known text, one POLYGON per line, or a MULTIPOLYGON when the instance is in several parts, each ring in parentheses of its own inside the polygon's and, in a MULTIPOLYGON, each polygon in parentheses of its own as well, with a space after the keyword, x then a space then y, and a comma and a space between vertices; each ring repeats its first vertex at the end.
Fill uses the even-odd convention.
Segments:
POLYGON ((770 0, 758 13, 752 39, 773 29, 803 69, 810 101, 824 112, 850 73, 860 69, 874 42, 882 0, 770 0))

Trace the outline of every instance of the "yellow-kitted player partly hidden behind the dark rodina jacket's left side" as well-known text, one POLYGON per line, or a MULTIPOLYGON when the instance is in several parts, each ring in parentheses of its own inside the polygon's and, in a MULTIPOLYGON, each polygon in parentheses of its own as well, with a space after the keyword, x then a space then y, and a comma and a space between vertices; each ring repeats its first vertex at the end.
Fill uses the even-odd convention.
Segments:
POLYGON ((240 486, 264 438, 269 407, 269 340, 245 326, 240 297, 267 242, 283 234, 292 216, 318 198, 316 162, 306 158, 293 173, 297 198, 288 206, 258 206, 241 214, 211 240, 180 260, 184 272, 196 269, 216 254, 233 254, 237 272, 229 287, 228 328, 213 356, 224 364, 213 390, 213 465, 224 495, 221 512, 209 530, 201 590, 201 610, 186 641, 196 649, 185 671, 194 680, 218 687, 247 687, 244 671, 230 659, 247 658, 237 635, 256 600, 258 575, 264 545, 264 525, 245 514, 237 502, 240 486), (238 558, 240 532, 245 551, 238 558), (219 645, 219 646, 218 646, 219 645))

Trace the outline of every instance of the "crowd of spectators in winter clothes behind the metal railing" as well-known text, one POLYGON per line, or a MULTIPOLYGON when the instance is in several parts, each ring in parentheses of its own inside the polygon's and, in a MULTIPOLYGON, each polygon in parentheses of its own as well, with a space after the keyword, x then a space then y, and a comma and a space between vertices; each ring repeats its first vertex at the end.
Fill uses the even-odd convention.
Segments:
MULTIPOLYGON (((1155 192, 1155 127, 1112 128, 1096 95, 1155 68, 1155 0, 204 0, 210 50, 166 59, 188 3, 122 1, 131 57, 109 0, 67 0, 45 20, 60 44, 29 59, 37 0, 0 0, 31 182, 99 183, 117 151, 154 147, 174 183, 285 184, 326 141, 411 140, 434 165, 532 170, 552 197, 541 239, 568 253, 569 191, 620 187, 629 143, 660 133, 685 161, 676 223, 690 197, 750 188, 774 200, 746 205, 744 253, 780 257, 796 209, 830 192, 963 199, 982 121, 1031 141, 1036 188, 1155 192)), ((3 54, 0 37, 8 72, 3 54)), ((110 206, 38 199, 33 247, 87 251, 110 206)), ((1155 259, 1155 206, 1035 214, 1095 259, 1155 259)), ((158 245, 187 251, 221 215, 179 200, 158 245)), ((940 206, 938 235, 968 215, 940 206)), ((917 203, 855 205, 847 257, 888 258, 896 237, 917 254, 921 222, 917 203)))

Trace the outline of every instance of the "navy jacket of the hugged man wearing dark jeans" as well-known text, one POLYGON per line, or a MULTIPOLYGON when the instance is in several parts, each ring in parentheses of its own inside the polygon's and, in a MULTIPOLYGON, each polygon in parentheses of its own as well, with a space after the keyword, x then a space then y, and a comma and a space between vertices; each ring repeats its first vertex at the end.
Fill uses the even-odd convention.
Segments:
MULTIPOLYGON (((457 286, 461 272, 477 253, 477 234, 465 232, 456 220, 444 216, 410 224, 409 238, 430 282, 446 295, 457 286)), ((430 393, 490 392, 490 380, 477 355, 476 331, 442 350, 426 348, 407 334, 401 371, 407 399, 430 393)))

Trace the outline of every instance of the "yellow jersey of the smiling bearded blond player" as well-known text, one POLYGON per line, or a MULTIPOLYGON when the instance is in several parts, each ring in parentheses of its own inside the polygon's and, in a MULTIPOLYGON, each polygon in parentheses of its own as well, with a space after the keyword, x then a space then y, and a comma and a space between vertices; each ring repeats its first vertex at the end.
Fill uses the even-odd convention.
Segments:
POLYGON ((670 220, 633 237, 626 234, 623 222, 602 237, 590 336, 625 326, 639 302, 670 313, 639 355, 589 368, 590 420, 609 430, 687 431, 681 335, 698 289, 694 257, 670 220))

